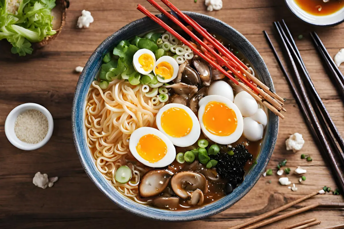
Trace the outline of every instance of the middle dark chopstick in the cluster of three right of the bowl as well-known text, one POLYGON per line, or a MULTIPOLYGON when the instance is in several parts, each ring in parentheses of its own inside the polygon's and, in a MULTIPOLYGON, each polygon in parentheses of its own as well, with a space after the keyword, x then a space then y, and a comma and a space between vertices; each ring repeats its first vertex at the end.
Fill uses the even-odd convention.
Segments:
MULTIPOLYGON (((316 135, 318 136, 318 139, 319 139, 319 142, 321 144, 321 147, 323 150, 320 150, 320 152, 322 153, 323 157, 327 159, 328 163, 330 163, 330 168, 334 174, 334 178, 336 180, 336 183, 338 185, 338 187, 340 187, 341 191, 343 192, 344 191, 344 176, 343 174, 341 173, 338 165, 337 165, 337 162, 334 158, 334 155, 332 153, 332 150, 329 146, 329 144, 327 144, 327 141, 326 141, 326 138, 323 134, 323 131, 316 119, 316 116, 314 115, 313 113, 313 110, 312 110, 312 106, 309 102, 309 99, 308 99, 308 95, 305 91, 305 88, 302 84, 302 81, 301 81, 301 78, 300 78, 300 75, 299 75, 299 71, 298 71, 298 68, 297 66, 295 65, 295 62, 294 62, 294 59, 293 59, 293 56, 291 55, 291 51, 289 50, 289 47, 287 45, 287 43, 289 44, 289 46, 291 46, 286 34, 284 33, 284 31, 282 30, 282 27, 280 26, 280 24, 278 25, 276 22, 274 23, 275 27, 276 27, 276 30, 279 34, 279 37, 281 38, 281 41, 282 41, 282 44, 283 44, 283 47, 284 49, 286 50, 287 52, 287 58, 290 60, 291 62, 291 65, 293 67, 293 72, 295 73, 295 77, 297 79, 297 82, 298 82, 298 86, 300 88, 300 91, 302 93, 302 96, 303 96, 303 99, 304 99, 304 102, 305 104, 307 105, 306 108, 307 108, 307 112, 308 112, 308 115, 311 119, 311 122, 312 122, 312 125, 313 125, 313 128, 315 129, 315 133, 316 135)), ((292 49, 292 48, 291 48, 292 49)), ((298 59, 298 56, 296 55, 295 51, 292 50, 294 56, 295 56, 295 59, 298 60, 298 63, 300 65, 300 67, 302 66, 302 63, 300 61, 300 59, 298 59)), ((296 89, 295 89, 296 90, 296 89)), ((306 120, 307 122, 307 120, 306 120)))

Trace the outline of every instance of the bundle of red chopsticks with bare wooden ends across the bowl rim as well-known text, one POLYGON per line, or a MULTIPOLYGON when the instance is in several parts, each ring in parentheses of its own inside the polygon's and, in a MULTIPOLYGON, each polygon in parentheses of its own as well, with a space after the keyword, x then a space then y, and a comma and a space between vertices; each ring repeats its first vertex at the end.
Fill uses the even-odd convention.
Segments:
POLYGON ((173 36, 178 38, 180 41, 182 41, 184 44, 188 45, 190 49, 202 57, 205 61, 207 61, 210 65, 215 67, 217 70, 222 72, 225 76, 227 76, 230 80, 232 80, 236 85, 239 85, 242 89, 247 91, 249 94, 251 94, 257 101, 262 102, 265 104, 269 110, 271 110, 273 113, 284 118, 283 114, 281 112, 286 112, 286 110, 282 107, 284 104, 284 100, 277 95, 275 92, 272 92, 265 84, 263 84, 261 81, 259 81, 256 77, 254 77, 250 72, 248 72, 247 66, 242 63, 233 53, 231 53, 224 45, 222 45, 219 41, 217 41, 211 34, 209 34, 203 27, 201 27, 198 23, 196 23, 194 20, 192 20, 189 16, 185 15, 183 12, 178 10, 172 3, 170 3, 168 0, 161 0, 164 4, 166 4, 171 10, 173 10, 178 16, 183 18, 185 22, 187 22, 190 26, 192 26, 197 32, 199 32, 204 39, 206 39, 207 42, 212 44, 220 54, 225 56, 219 55, 216 53, 215 50, 210 48, 208 45, 206 45, 200 38, 198 38, 196 35, 194 35, 189 28, 187 28, 182 22, 180 22, 177 18, 175 18, 173 15, 169 14, 167 11, 165 11, 160 5, 155 2, 154 0, 147 0, 149 3, 151 3, 156 9, 158 9, 161 13, 163 13, 167 18, 169 18, 171 21, 173 21, 175 24, 177 24, 179 27, 181 27, 187 34, 189 34, 199 45, 201 45, 203 48, 205 48, 209 53, 211 53, 214 57, 211 59, 211 56, 203 54, 200 50, 198 50, 196 47, 192 46, 189 41, 187 41, 184 37, 179 35, 177 32, 175 32, 170 26, 168 26, 166 23, 164 23, 162 20, 157 18, 155 15, 150 13, 146 8, 144 8, 142 5, 138 5, 137 9, 147 15, 149 18, 151 18, 153 21, 157 22, 159 25, 161 25, 166 31, 170 32, 173 36), (241 80, 242 82, 237 81, 232 75, 230 75, 227 71, 225 71, 219 64, 217 64, 215 61, 218 61, 220 63, 223 63, 230 71, 234 73, 234 75, 241 80), (256 83, 260 88, 255 87, 249 80, 256 83), (244 83, 243 83, 244 82, 244 83))

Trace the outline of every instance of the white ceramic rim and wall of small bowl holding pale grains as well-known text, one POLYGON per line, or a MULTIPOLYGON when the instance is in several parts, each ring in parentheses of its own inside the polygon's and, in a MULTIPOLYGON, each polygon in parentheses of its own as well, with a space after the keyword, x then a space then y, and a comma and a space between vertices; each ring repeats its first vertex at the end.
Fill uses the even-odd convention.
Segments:
POLYGON ((36 104, 36 103, 24 103, 17 107, 15 107, 8 115, 5 121, 5 134, 7 139, 11 142, 11 144, 19 149, 22 150, 35 150, 44 146, 50 139, 51 135, 53 134, 54 129, 54 121, 53 117, 51 116, 50 112, 43 106, 36 104), (14 133, 14 124, 17 120, 18 115, 27 111, 27 110, 37 110, 42 112, 48 120, 48 132, 46 133, 45 137, 42 141, 36 144, 28 144, 18 139, 18 137, 14 133))

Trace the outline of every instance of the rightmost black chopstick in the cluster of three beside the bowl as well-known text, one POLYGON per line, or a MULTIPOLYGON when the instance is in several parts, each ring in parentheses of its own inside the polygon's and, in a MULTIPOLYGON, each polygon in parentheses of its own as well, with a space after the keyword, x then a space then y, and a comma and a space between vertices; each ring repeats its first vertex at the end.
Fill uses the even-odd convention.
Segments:
MULTIPOLYGON (((280 26, 280 29, 282 30, 283 34, 286 36, 286 33, 284 33, 282 26, 280 25, 280 23, 278 23, 280 26)), ((322 117, 325 118, 325 125, 324 127, 329 127, 330 130, 332 131, 332 135, 334 136, 335 140, 337 141, 339 147, 341 148, 341 150, 339 150, 336 146, 335 147, 335 151, 336 154, 338 155, 338 157, 340 157, 341 161, 342 161, 342 165, 344 166, 344 142, 342 137, 339 134, 338 129, 336 128, 336 126, 334 125, 332 118, 329 114, 329 112, 327 111, 324 103, 322 102, 318 92, 316 91, 314 84, 309 76, 309 73, 307 71, 307 69, 305 68, 304 62, 301 58, 300 52, 295 44, 294 39, 292 38, 289 30, 288 30, 288 26, 286 25, 286 23, 284 23, 283 21, 283 25, 287 30, 287 33, 290 35, 289 39, 287 39, 287 45, 289 45, 289 47, 291 48, 291 53, 295 56, 296 62, 298 62, 298 64, 300 65, 301 68, 301 72, 303 72, 303 82, 305 84, 305 87, 308 89, 309 93, 311 94, 310 99, 313 103, 313 108, 315 110, 318 110, 319 112, 321 112, 322 116, 317 114, 318 118, 321 119, 322 117), (291 40, 290 40, 291 39, 291 40)), ((287 36, 286 36, 287 37, 287 36)), ((326 133, 326 130, 325 130, 326 133)), ((330 133, 326 133, 327 137, 332 138, 332 136, 330 135, 330 133)))

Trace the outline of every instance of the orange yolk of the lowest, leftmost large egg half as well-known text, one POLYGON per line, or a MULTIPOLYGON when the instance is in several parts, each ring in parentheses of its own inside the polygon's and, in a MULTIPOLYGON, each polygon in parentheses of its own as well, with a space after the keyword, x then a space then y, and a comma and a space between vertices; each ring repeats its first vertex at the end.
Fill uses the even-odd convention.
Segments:
POLYGON ((158 136, 147 134, 140 138, 136 150, 144 160, 154 163, 165 157, 167 146, 158 136))

